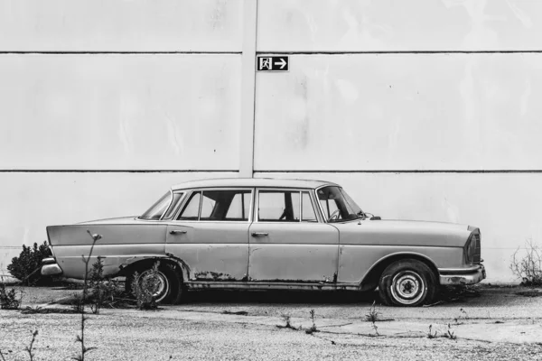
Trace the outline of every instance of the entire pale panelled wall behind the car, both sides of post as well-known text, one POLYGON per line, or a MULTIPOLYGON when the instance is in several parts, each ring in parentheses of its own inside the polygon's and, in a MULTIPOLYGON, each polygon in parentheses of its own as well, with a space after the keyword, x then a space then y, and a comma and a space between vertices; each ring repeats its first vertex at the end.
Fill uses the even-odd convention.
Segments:
POLYGON ((542 2, 257 0, 252 26, 253 1, 0 0, 0 269, 49 224, 254 169, 481 227, 512 281, 542 243, 542 2))

